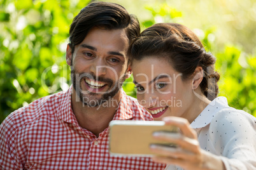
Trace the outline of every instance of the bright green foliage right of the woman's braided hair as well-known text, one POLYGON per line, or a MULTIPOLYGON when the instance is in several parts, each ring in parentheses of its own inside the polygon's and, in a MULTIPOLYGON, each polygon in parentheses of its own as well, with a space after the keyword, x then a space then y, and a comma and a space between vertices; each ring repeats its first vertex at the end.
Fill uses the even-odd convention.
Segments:
POLYGON ((227 96, 232 107, 256 116, 256 56, 246 55, 236 46, 225 46, 217 53, 217 70, 222 81, 220 95, 227 96))

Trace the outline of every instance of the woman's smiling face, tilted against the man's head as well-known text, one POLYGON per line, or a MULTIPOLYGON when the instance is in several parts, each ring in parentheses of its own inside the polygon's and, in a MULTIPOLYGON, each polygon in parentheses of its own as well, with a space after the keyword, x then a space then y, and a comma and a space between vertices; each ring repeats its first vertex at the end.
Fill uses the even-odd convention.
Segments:
POLYGON ((155 121, 162 117, 188 118, 193 104, 192 79, 183 81, 181 73, 164 58, 145 57, 132 62, 134 84, 139 103, 155 121))

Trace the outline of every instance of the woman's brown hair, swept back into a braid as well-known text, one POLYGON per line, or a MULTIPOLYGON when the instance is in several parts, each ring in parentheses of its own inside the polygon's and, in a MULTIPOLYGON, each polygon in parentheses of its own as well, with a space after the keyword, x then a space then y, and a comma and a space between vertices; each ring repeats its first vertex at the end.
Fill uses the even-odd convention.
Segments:
POLYGON ((173 68, 182 74, 182 79, 190 79, 196 67, 204 70, 201 91, 213 100, 218 95, 220 75, 215 72, 215 56, 207 53, 199 38, 184 25, 178 23, 157 23, 141 32, 132 41, 128 50, 131 62, 145 57, 165 58, 173 68))

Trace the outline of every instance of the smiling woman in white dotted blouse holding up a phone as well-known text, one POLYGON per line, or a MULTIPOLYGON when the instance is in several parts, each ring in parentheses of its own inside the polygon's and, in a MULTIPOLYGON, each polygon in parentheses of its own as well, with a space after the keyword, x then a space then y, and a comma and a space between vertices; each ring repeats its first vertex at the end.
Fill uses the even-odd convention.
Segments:
POLYGON ((129 57, 138 101, 181 131, 153 134, 178 145, 152 145, 153 160, 166 169, 256 169, 256 119, 217 97, 215 57, 191 30, 155 24, 132 42, 129 57))

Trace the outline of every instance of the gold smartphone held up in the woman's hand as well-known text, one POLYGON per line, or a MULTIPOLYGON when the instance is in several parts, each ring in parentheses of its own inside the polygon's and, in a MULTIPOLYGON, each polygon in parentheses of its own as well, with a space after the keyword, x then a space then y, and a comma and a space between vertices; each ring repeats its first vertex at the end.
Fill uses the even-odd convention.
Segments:
POLYGON ((164 121, 111 121, 109 150, 113 155, 152 156, 150 145, 176 147, 173 143, 153 139, 156 131, 179 133, 178 128, 165 125, 164 121))

